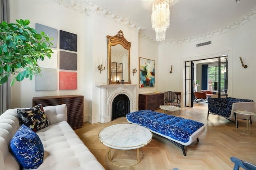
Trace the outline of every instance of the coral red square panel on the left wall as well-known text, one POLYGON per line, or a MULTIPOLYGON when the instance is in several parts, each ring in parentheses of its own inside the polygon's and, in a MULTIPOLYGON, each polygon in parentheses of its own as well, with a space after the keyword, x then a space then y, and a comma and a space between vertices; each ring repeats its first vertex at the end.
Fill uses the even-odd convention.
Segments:
POLYGON ((60 71, 60 90, 77 89, 77 74, 76 72, 60 71))

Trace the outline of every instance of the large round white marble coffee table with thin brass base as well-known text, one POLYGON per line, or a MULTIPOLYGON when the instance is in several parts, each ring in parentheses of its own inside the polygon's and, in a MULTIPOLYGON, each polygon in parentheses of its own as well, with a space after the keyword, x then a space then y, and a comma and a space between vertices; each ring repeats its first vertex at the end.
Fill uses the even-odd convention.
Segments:
POLYGON ((143 152, 140 150, 142 152, 142 158, 139 160, 139 148, 148 145, 152 136, 152 132, 148 128, 131 123, 113 124, 108 127, 104 127, 99 132, 100 142, 110 148, 108 151, 108 159, 110 162, 116 166, 124 168, 132 167, 140 163, 143 159, 143 152), (136 164, 131 166, 120 166, 113 163, 113 158, 111 156, 112 149, 137 149, 136 164))

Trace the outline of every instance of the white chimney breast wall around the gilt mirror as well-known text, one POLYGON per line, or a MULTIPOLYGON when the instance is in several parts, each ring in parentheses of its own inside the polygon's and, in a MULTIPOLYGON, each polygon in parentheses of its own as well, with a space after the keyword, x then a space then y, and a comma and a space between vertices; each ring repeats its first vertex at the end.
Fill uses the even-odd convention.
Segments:
MULTIPOLYGON (((138 58, 138 32, 133 31, 131 29, 128 29, 127 27, 124 27, 122 25, 119 25, 116 22, 107 20, 106 18, 103 18, 102 16, 99 16, 97 14, 92 14, 91 16, 93 18, 92 25, 92 56, 94 58, 94 61, 92 61, 92 70, 93 70, 93 77, 91 82, 91 99, 92 99, 92 110, 90 110, 90 113, 92 115, 89 115, 89 122, 90 123, 96 123, 98 122, 98 115, 99 115, 99 103, 100 103, 100 88, 96 87, 95 84, 107 84, 108 82, 108 66, 106 66, 106 69, 103 70, 100 74, 100 71, 98 68, 96 68, 96 59, 103 57, 106 60, 108 59, 108 46, 107 46, 107 35, 114 36, 118 33, 119 30, 122 30, 124 33, 124 37, 127 41, 131 42, 131 49, 130 49, 130 63, 136 63, 138 58)), ((136 82, 134 76, 132 76, 132 73, 130 72, 131 76, 131 82, 132 84, 138 84, 136 82)))

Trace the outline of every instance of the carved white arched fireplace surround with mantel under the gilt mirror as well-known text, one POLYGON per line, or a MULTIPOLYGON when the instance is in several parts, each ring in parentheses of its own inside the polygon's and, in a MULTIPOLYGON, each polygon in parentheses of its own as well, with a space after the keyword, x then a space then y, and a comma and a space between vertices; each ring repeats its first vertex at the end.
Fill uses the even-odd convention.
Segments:
POLYGON ((111 121, 112 102, 119 94, 124 94, 129 98, 130 112, 138 110, 138 84, 106 84, 96 86, 100 88, 100 123, 107 123, 111 121))

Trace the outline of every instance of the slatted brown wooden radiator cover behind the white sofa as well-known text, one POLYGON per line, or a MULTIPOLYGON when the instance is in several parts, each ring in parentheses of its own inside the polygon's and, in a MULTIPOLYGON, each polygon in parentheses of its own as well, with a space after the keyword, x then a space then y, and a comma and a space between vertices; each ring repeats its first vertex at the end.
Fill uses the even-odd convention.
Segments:
POLYGON ((36 106, 37 104, 42 104, 43 107, 66 104, 68 111, 68 124, 73 129, 83 126, 84 96, 82 95, 33 97, 33 106, 36 106))

